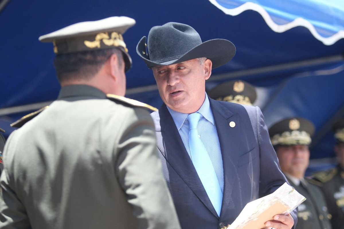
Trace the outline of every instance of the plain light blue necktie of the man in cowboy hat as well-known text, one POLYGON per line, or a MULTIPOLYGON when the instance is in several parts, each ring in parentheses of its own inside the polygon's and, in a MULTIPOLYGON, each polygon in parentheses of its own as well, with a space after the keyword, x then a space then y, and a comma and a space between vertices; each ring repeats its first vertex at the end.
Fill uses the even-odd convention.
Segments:
POLYGON ((222 205, 222 191, 215 173, 215 169, 202 140, 198 136, 197 124, 202 115, 192 113, 187 116, 189 121, 189 147, 191 160, 200 177, 203 187, 212 202, 216 213, 220 216, 222 205))

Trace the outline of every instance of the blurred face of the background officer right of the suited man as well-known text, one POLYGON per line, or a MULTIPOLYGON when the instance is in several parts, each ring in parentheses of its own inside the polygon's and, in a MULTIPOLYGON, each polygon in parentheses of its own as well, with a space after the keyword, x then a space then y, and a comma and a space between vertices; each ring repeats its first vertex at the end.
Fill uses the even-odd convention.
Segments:
POLYGON ((276 154, 282 172, 297 178, 303 178, 309 164, 310 153, 308 146, 278 146, 276 154))

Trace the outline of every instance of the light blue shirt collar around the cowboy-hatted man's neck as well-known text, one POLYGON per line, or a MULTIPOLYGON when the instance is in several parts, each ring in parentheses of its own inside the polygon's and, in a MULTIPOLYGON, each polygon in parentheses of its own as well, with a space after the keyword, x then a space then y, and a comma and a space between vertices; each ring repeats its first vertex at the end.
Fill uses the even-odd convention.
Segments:
MULTIPOLYGON (((169 110, 169 112, 173 118, 175 126, 179 130, 183 126, 185 119, 187 118, 187 115, 189 115, 189 114, 174 111, 168 106, 167 106, 167 109, 169 110)), ((208 98, 207 93, 205 93, 205 100, 197 112, 200 113, 205 119, 207 119, 209 122, 211 122, 214 125, 214 123, 215 123, 214 122, 214 116, 213 116, 213 113, 212 113, 212 110, 210 107, 209 98, 208 98)))

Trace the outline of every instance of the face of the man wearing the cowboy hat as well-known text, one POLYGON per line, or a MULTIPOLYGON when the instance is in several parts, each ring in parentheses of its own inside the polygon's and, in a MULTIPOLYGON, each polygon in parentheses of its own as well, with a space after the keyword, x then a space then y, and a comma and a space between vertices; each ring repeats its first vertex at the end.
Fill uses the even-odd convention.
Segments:
POLYGON ((211 75, 212 62, 201 65, 197 59, 152 68, 162 101, 174 111, 194 113, 205 99, 205 80, 211 75))

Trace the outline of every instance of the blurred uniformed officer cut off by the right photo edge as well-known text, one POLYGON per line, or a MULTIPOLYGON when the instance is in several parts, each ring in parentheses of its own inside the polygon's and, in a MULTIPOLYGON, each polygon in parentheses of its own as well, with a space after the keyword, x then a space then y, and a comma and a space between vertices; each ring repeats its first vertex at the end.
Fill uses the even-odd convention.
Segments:
POLYGON ((333 169, 314 174, 313 178, 325 195, 332 215, 332 228, 344 229, 344 118, 333 125, 333 130, 338 164, 333 169))

